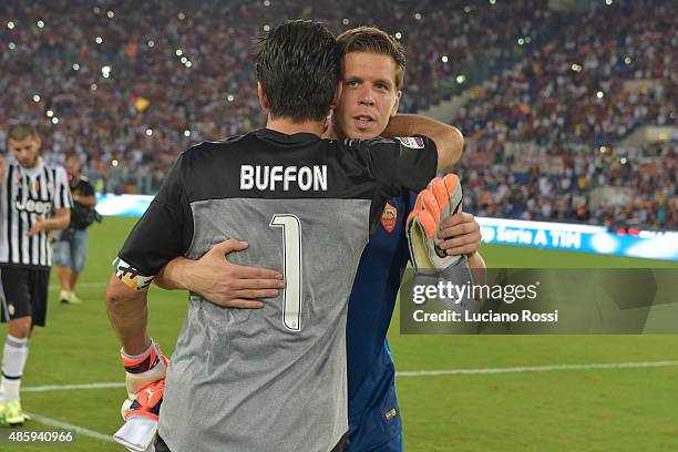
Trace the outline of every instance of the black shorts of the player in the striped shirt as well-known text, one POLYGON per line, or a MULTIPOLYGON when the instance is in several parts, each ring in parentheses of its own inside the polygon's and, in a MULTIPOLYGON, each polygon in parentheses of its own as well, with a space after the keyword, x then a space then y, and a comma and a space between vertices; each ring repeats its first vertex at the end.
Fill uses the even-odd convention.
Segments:
POLYGON ((50 268, 2 266, 0 281, 4 294, 2 321, 29 316, 33 325, 44 327, 50 268))

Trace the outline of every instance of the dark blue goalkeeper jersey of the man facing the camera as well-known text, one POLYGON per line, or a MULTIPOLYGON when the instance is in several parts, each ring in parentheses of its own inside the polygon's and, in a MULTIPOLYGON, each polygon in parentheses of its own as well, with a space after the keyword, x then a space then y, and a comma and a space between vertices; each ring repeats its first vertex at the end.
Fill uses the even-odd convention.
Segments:
POLYGON ((415 196, 409 193, 388 201, 360 258, 349 298, 348 452, 370 451, 402 431, 387 331, 410 258, 404 224, 415 196))

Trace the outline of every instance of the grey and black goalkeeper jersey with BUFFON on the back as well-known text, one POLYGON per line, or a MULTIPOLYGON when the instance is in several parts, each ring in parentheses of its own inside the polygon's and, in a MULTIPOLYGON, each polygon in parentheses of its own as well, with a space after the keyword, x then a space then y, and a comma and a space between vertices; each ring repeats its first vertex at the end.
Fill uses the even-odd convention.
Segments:
POLYGON ((270 130, 182 154, 119 269, 145 281, 174 257, 237 238, 249 248, 228 259, 279 269, 286 288, 259 310, 191 296, 161 409, 173 452, 337 444, 348 431, 346 307, 360 255, 386 199, 423 188, 436 155, 422 136, 340 142, 270 130))

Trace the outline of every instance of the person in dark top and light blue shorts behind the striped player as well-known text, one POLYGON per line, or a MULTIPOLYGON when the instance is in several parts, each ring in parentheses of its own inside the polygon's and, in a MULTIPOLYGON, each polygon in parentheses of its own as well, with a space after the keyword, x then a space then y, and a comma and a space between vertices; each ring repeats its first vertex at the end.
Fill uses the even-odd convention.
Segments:
POLYGON ((61 302, 79 305, 82 301, 75 295, 75 284, 88 258, 88 227, 94 220, 100 222, 101 217, 94 209, 94 187, 80 174, 80 158, 76 155, 66 158, 66 172, 73 198, 71 224, 66 229, 54 234, 52 246, 61 286, 59 299, 61 302))

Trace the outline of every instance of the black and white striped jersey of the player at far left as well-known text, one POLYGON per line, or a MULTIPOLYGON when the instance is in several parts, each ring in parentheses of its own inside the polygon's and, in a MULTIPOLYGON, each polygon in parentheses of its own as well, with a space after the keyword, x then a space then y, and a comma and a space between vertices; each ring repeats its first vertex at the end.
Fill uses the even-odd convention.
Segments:
POLYGON ((0 265, 50 267, 48 233, 32 237, 28 233, 37 217, 49 218, 58 208, 71 208, 65 170, 45 164, 42 158, 34 167, 24 168, 10 158, 0 195, 0 265))

